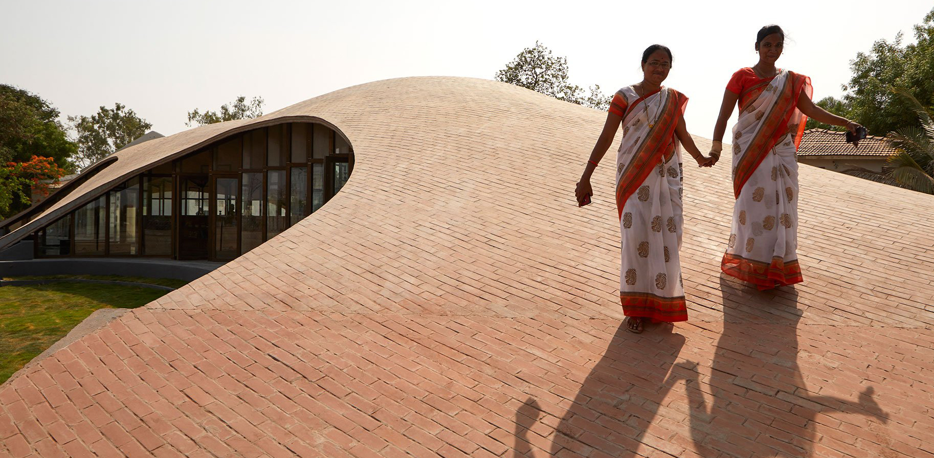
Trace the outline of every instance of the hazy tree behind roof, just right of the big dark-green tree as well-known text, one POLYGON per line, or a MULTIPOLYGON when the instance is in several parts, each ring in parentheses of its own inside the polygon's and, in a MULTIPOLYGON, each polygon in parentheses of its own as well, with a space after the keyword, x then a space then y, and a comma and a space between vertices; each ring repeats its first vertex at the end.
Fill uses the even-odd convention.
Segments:
POLYGON ((76 162, 81 168, 114 154, 152 128, 146 119, 119 103, 113 109, 102 105, 90 118, 69 116, 68 122, 78 133, 76 162))

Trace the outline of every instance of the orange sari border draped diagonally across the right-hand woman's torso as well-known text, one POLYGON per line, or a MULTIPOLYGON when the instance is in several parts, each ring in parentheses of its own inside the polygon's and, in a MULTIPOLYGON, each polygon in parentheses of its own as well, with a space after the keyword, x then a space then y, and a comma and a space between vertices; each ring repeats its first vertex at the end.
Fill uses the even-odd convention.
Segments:
MULTIPOLYGON (((769 151, 775 146, 775 143, 788 133, 788 121, 795 114, 795 109, 798 107, 798 97, 801 90, 810 84, 809 81, 810 78, 807 76, 788 72, 785 86, 779 90, 781 95, 779 95, 775 104, 771 106, 767 118, 762 121, 763 125, 758 130, 756 138, 750 142, 749 146, 746 146, 743 157, 736 164, 736 172, 733 175, 734 199, 740 198, 740 191, 743 190, 746 181, 756 172, 762 160, 765 160, 766 156, 769 155, 769 151), (781 114, 780 117, 776 115, 777 113, 781 114)), ((740 116, 743 116, 743 111, 761 95, 762 91, 769 86, 769 83, 771 83, 771 79, 757 83, 740 94, 740 98, 745 101, 745 103, 741 103, 740 116)), ((804 134, 806 120, 807 117, 802 115, 794 132, 796 148, 800 145, 801 136, 804 134)))

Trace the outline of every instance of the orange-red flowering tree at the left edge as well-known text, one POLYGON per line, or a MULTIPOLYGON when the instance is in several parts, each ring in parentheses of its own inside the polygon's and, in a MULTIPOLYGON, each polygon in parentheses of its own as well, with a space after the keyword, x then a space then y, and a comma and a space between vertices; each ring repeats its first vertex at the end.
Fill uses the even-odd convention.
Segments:
POLYGON ((52 158, 7 162, 0 167, 0 219, 20 213, 32 204, 33 195, 49 196, 51 185, 65 173, 52 158))

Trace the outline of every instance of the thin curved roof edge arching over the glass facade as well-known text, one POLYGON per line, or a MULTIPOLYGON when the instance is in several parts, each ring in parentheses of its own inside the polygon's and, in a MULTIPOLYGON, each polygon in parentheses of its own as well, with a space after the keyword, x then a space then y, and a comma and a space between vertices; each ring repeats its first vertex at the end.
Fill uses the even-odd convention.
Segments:
MULTIPOLYGON (((151 147, 154 144, 162 145, 163 143, 170 143, 169 141, 173 139, 173 137, 177 137, 179 135, 191 134, 191 132, 204 130, 205 128, 209 126, 217 127, 218 125, 222 125, 222 124, 230 125, 230 129, 220 131, 218 133, 215 133, 214 135, 205 137, 200 140, 192 139, 191 143, 184 144, 185 146, 183 146, 180 149, 173 148, 175 149, 175 151, 167 152, 165 154, 160 154, 160 153, 163 153, 163 151, 160 151, 157 146, 156 151, 150 152, 149 155, 147 156, 148 158, 155 157, 155 159, 149 160, 147 162, 142 162, 138 166, 132 168, 129 172, 120 173, 119 175, 111 177, 107 179, 106 182, 99 184, 96 187, 93 187, 88 192, 85 192, 79 196, 73 196, 74 199, 72 199, 71 201, 66 201, 66 199, 58 199, 56 202, 52 202, 52 205, 48 205, 43 208, 44 213, 42 215, 36 216, 35 218, 33 218, 31 221, 24 224, 20 228, 14 229, 10 231, 10 233, 8 233, 6 236, 0 238, 0 250, 7 249, 7 247, 11 246, 13 243, 20 242, 22 239, 26 238, 29 234, 33 233, 35 230, 41 229, 42 227, 46 226, 47 224, 50 224, 51 222, 55 221, 59 217, 62 217, 64 215, 67 215, 69 212, 77 210, 81 205, 84 205, 85 203, 88 203, 90 201, 93 201, 94 199, 97 199, 111 187, 115 187, 118 184, 120 184, 120 182, 123 182, 123 181, 126 181, 132 178, 137 173, 141 173, 145 171, 146 169, 162 165, 165 162, 176 160, 177 158, 185 156, 186 154, 189 154, 202 146, 206 146, 211 143, 217 142, 219 140, 223 140, 224 138, 233 136, 237 133, 246 132, 246 131, 250 131, 252 129, 258 129, 261 127, 273 126, 276 124, 283 124, 286 122, 318 122, 320 124, 323 124, 329 127, 334 132, 337 132, 338 134, 340 134, 345 140, 347 140, 347 144, 351 146, 353 145, 353 143, 350 142, 350 139, 347 138, 347 134, 344 133, 340 128, 335 126, 333 123, 331 123, 330 121, 326 119, 318 118, 316 116, 310 116, 310 115, 287 115, 287 116, 278 116, 278 117, 270 117, 270 115, 266 115, 266 116, 262 116, 259 118, 248 119, 246 120, 246 122, 243 122, 242 120, 225 121, 225 122, 219 122, 216 124, 208 124, 205 126, 199 126, 199 127, 191 128, 187 131, 177 132, 166 137, 153 139, 149 142, 131 146, 124 150, 120 150, 117 153, 114 153, 114 155, 111 156, 111 158, 114 158, 114 159, 108 161, 107 165, 120 159, 120 157, 129 156, 132 153, 137 152, 137 150, 141 148, 151 147), (57 203, 59 201, 65 201, 65 202, 61 204, 60 206, 58 206, 57 208, 50 208, 51 206, 54 205, 54 203, 57 203)), ((101 163, 101 162, 98 162, 98 163, 101 163)), ((94 174, 97 174, 96 171, 100 171, 100 170, 103 170, 103 167, 95 169, 94 174)), ((84 183, 84 182, 87 182, 92 177, 92 175, 89 175, 87 178, 82 178, 82 175, 84 175, 84 173, 81 173, 80 175, 78 175, 77 178, 75 178, 75 180, 72 180, 72 181, 76 181, 80 179, 81 183, 84 183)), ((74 187, 77 187, 77 186, 78 185, 76 184, 74 187)), ((59 192, 60 191, 61 189, 59 190, 59 192)), ((56 192, 56 194, 57 193, 58 192, 56 192)), ((63 198, 66 198, 66 197, 69 197, 69 196, 63 196, 63 198)), ((3 226, 0 226, 0 227, 3 227, 3 226)))

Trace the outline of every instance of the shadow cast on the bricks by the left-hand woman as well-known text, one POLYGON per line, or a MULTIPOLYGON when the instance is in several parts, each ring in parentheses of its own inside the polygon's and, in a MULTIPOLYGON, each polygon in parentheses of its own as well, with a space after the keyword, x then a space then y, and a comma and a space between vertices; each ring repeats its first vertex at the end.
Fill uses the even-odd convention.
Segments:
MULTIPOLYGON (((650 325, 638 335, 619 326, 561 417, 549 456, 639 456, 646 429, 678 382, 668 374, 684 344, 672 326, 650 325)), ((532 398, 517 410, 514 457, 534 456, 527 435, 541 413, 532 398)))

